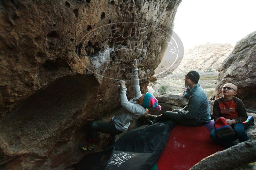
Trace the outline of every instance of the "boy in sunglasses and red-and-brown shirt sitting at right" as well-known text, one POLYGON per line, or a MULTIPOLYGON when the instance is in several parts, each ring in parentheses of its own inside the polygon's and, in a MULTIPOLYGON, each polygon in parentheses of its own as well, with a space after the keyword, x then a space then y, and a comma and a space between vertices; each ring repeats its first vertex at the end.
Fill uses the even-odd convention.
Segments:
MULTIPOLYGON (((242 100, 234 97, 237 94, 237 86, 227 83, 223 86, 221 93, 223 97, 216 99, 213 103, 213 119, 216 121, 219 117, 224 117, 229 126, 232 126, 236 139, 240 142, 249 140, 244 131, 243 122, 247 120, 247 113, 242 100)), ((223 141, 217 138, 215 128, 210 134, 211 139, 225 148, 234 144, 231 141, 223 141)))

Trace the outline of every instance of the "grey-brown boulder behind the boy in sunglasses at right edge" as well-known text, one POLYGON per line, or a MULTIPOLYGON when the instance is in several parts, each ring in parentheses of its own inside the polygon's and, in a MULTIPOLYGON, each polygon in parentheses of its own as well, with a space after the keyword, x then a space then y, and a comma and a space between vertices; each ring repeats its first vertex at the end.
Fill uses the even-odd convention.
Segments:
POLYGON ((224 60, 219 69, 215 99, 221 97, 225 83, 237 86, 236 97, 245 107, 256 110, 256 31, 237 42, 233 52, 224 60))

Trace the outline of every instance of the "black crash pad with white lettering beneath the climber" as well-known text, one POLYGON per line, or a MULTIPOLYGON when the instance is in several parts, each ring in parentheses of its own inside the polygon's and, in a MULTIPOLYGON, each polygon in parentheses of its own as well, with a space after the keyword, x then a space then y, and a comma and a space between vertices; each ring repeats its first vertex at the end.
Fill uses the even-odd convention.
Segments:
POLYGON ((106 150, 84 155, 75 169, 149 169, 163 152, 175 125, 174 121, 165 121, 128 131, 106 150))

